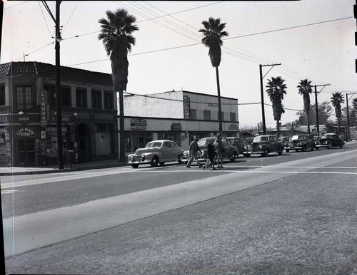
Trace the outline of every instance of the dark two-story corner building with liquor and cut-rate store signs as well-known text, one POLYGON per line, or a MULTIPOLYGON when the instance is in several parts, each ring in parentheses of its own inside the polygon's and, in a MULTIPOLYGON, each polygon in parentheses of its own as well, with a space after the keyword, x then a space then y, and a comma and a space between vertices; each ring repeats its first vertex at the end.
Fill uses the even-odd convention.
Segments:
MULTIPOLYGON (((58 162, 55 66, 0 64, 0 165, 58 162)), ((64 159, 80 162, 119 155, 116 93, 111 75, 61 67, 64 159)))

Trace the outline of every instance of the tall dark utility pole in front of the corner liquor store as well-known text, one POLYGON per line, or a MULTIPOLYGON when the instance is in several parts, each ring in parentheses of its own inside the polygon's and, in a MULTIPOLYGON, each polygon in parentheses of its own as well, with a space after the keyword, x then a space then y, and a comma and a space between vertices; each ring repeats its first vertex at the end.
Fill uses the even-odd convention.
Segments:
POLYGON ((56 26, 56 113, 57 113, 57 150, 59 154, 59 169, 64 169, 64 152, 62 144, 62 113, 61 113, 61 65, 60 65, 60 54, 59 54, 59 42, 61 42, 61 31, 59 26, 59 6, 62 1, 56 0, 56 18, 52 14, 46 1, 42 1, 46 10, 49 12, 54 24, 56 26))

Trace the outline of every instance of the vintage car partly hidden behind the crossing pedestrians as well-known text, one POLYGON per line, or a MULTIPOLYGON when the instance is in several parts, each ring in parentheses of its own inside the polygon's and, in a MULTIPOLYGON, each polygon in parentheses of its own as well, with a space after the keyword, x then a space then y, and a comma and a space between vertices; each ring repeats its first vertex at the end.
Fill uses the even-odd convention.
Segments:
MULTIPOLYGON (((213 140, 213 142, 217 139, 217 137, 203 137, 200 140, 197 141, 198 147, 201 149, 202 154, 198 156, 198 161, 206 161, 206 155, 207 155, 207 145, 209 140, 213 140)), ((223 142, 223 158, 228 158, 231 160, 231 162, 236 160, 236 157, 239 155, 238 148, 233 146, 231 142, 226 138, 222 138, 223 142)), ((189 157, 189 152, 186 150, 183 152, 183 155, 181 157, 182 162, 187 162, 189 157)))

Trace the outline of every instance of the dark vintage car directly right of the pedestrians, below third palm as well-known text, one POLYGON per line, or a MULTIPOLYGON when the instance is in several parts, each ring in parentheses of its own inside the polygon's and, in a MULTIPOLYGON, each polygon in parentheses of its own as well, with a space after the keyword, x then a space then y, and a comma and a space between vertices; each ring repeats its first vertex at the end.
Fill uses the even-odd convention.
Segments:
POLYGON ((283 143, 275 135, 258 135, 254 137, 250 145, 246 146, 243 156, 250 157, 252 154, 260 154, 262 157, 267 157, 271 152, 277 152, 282 155, 283 149, 283 143))

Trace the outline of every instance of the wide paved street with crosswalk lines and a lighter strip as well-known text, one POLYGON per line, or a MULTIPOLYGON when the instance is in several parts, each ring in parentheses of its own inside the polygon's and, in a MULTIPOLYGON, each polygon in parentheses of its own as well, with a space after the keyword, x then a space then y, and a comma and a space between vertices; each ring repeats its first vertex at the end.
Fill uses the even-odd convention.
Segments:
POLYGON ((1 177, 6 273, 357 274, 356 146, 1 177))

